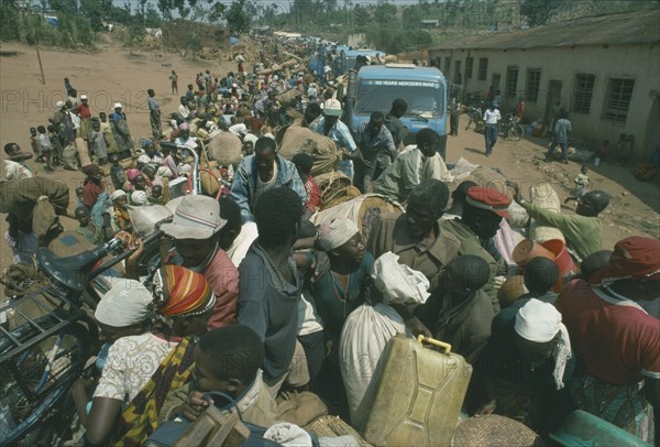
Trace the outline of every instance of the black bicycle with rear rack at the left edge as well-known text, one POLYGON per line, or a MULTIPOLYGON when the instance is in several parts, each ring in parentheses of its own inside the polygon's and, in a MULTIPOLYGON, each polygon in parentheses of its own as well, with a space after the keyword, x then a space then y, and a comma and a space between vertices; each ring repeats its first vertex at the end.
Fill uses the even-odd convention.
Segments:
MULTIPOLYGON (((144 239, 151 244, 155 231, 144 239)), ((48 284, 0 307, 25 323, 13 329, 0 325, 0 444, 51 444, 53 436, 66 437, 73 405, 64 405, 74 381, 87 360, 100 348, 99 331, 91 314, 99 294, 91 281, 127 259, 132 251, 116 254, 122 242, 112 239, 73 257, 61 258, 41 248, 36 265, 48 284), (23 310, 34 306, 44 315, 31 318, 23 310)), ((155 271, 155 270, 154 270, 155 271)))

